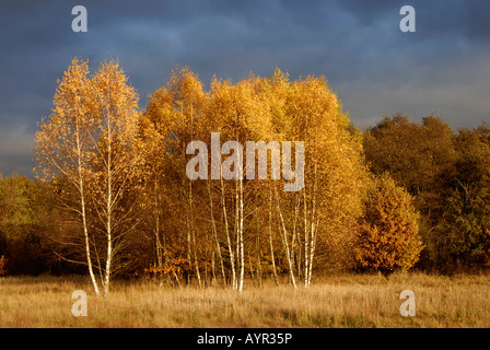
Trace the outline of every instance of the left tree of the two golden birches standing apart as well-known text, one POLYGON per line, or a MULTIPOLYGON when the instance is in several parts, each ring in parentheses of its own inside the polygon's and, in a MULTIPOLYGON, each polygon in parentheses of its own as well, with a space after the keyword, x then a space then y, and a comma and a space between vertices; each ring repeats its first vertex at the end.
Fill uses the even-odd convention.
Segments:
MULTIPOLYGON (((95 122, 90 113, 90 78, 88 61, 74 58, 71 66, 58 80, 54 97, 54 107, 47 118, 39 124, 36 132, 36 174, 43 180, 60 177, 77 194, 74 201, 65 195, 70 189, 62 189, 58 196, 59 205, 74 214, 80 222, 83 240, 77 243, 85 253, 89 275, 96 295, 98 283, 93 268, 93 232, 88 219, 90 196, 86 183, 90 180, 90 162, 95 153, 95 144, 90 135, 95 130, 95 122)), ((83 262, 82 262, 83 264, 83 262)))

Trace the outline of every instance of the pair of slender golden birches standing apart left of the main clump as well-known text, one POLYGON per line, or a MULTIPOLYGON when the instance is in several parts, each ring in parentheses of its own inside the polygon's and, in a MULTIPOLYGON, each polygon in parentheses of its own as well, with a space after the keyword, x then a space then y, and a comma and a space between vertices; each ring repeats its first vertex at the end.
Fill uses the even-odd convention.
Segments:
MULTIPOLYGON (((117 61, 102 63, 90 77, 88 61, 75 58, 58 81, 51 115, 36 133, 37 174, 59 185, 60 206, 80 222, 96 295, 101 287, 108 294, 114 256, 135 226, 122 198, 141 159, 137 107, 138 94, 117 61)), ((72 244, 80 246, 80 240, 72 244)))

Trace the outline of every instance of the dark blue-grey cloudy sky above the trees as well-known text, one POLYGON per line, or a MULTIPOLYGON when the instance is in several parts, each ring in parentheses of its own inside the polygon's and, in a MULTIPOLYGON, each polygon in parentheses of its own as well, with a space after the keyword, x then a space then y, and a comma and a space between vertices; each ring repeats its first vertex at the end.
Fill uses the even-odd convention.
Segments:
POLYGON ((325 75, 365 128, 435 112, 453 128, 490 121, 490 2, 485 0, 44 1, 0 3, 0 172, 32 176, 34 132, 74 56, 119 57, 145 108, 176 65, 206 85, 275 67, 325 75), (74 33, 74 5, 88 10, 74 33), (400 8, 416 9, 402 33, 400 8))

